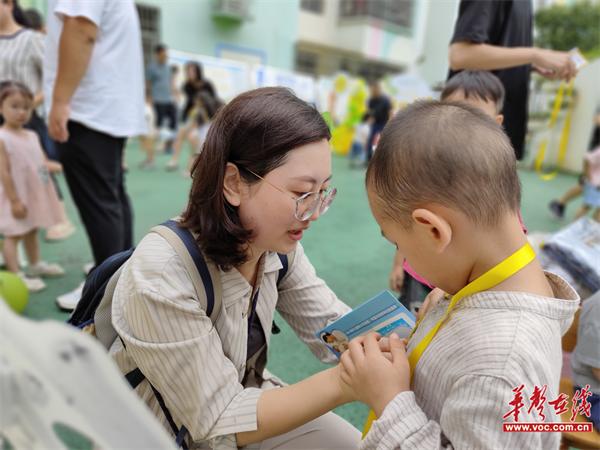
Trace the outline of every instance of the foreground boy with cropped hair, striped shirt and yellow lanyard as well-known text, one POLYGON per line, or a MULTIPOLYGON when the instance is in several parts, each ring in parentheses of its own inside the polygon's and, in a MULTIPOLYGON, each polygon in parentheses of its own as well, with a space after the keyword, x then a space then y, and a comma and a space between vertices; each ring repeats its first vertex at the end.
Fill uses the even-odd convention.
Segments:
MULTIPOLYGON (((342 386, 379 418, 362 448, 558 448, 559 433, 503 432, 504 421, 544 421, 529 408, 536 387, 546 387, 548 401, 558 397, 561 335, 579 297, 544 273, 528 246, 502 129, 464 103, 414 103, 383 131, 366 186, 383 236, 455 298, 472 281, 489 281, 481 276, 502 261, 527 257, 463 296, 437 332, 451 300, 433 306, 406 349, 395 336, 350 342, 342 386), (432 334, 415 362, 415 348, 432 334)), ((550 405, 543 413, 560 422, 550 405)))

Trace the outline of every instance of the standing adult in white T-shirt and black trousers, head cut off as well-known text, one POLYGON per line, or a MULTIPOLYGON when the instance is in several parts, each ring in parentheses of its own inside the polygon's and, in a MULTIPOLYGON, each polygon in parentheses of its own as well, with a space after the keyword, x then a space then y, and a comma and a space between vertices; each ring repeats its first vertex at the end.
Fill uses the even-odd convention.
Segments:
MULTIPOLYGON (((131 247, 121 158, 145 133, 140 25, 133 0, 48 2, 44 90, 50 136, 85 226, 95 264, 131 247)), ((73 309, 80 290, 59 297, 73 309)))

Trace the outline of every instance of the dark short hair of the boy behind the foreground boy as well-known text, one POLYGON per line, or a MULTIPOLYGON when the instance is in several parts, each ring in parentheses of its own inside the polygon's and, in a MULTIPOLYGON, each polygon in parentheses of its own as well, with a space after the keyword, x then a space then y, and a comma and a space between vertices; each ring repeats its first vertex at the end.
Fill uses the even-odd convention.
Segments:
POLYGON ((456 91, 464 92, 465 98, 473 96, 494 102, 498 114, 504 106, 504 86, 492 72, 463 70, 448 80, 440 98, 446 100, 456 91))

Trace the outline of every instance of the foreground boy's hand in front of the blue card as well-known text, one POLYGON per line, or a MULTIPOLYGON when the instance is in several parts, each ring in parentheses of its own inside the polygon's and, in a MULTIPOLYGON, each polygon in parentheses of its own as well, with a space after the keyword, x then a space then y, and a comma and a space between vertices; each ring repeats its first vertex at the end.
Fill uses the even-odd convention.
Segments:
POLYGON ((380 416, 400 392, 410 390, 410 366, 406 346, 396 334, 389 339, 391 361, 382 352, 377 333, 353 339, 342 354, 341 379, 356 399, 380 416))

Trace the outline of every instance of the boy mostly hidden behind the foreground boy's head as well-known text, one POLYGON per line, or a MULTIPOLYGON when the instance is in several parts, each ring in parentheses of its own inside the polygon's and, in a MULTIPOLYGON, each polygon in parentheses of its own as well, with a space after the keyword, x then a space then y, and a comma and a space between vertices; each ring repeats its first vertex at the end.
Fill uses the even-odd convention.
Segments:
MULTIPOLYGON (((464 70, 452 77, 441 94, 442 101, 464 102, 486 113, 502 125, 504 116, 504 86, 491 72, 464 70)), ((400 300, 416 313, 423 299, 433 287, 406 263, 404 255, 397 251, 389 275, 390 289, 401 292, 400 300)))

